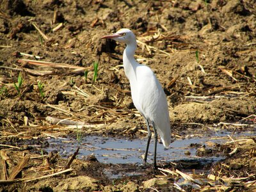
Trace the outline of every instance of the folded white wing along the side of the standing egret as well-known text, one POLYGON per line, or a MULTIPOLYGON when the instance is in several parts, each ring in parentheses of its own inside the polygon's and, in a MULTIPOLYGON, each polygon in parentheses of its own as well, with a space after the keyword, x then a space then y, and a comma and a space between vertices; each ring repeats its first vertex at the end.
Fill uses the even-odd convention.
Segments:
POLYGON ((156 129, 161 136, 164 147, 170 145, 170 117, 168 104, 164 90, 154 72, 147 67, 141 66, 136 70, 138 82, 138 104, 141 106, 141 113, 154 121, 156 129))

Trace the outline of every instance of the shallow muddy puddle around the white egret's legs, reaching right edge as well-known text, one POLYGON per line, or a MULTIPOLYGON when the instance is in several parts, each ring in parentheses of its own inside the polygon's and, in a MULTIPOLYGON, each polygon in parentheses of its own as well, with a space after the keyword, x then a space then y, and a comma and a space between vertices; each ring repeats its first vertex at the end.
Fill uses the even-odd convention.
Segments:
MULTIPOLYGON (((157 161, 200 161, 200 163, 210 163, 223 159, 223 156, 198 157, 196 156, 196 148, 191 147, 193 144, 206 145, 207 141, 211 143, 225 143, 230 141, 228 136, 232 138, 243 138, 253 136, 256 133, 253 131, 240 132, 223 132, 212 131, 211 134, 201 134, 200 136, 190 135, 184 140, 175 140, 168 150, 164 150, 163 145, 157 145, 157 161), (190 155, 186 153, 190 152, 190 155)), ((78 142, 76 138, 49 138, 50 146, 47 152, 57 150, 62 157, 68 157, 80 146, 79 159, 86 159, 89 155, 94 155, 100 163, 113 164, 141 164, 143 163, 143 154, 145 153, 147 138, 129 140, 127 138, 106 138, 100 136, 86 136, 78 142)), ((198 145, 197 145, 198 146, 198 145)), ((197 147, 198 148, 198 147, 197 147)), ((212 147, 209 147, 212 148, 212 147)), ((213 148, 214 149, 214 148, 213 148)), ((154 140, 150 142, 148 151, 148 163, 152 163, 154 150, 154 140)))

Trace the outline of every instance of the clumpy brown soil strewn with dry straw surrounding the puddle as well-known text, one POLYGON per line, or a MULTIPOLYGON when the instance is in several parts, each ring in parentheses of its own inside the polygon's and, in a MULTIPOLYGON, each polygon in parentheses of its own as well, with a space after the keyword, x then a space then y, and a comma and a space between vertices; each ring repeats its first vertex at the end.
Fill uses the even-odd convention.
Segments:
MULTIPOLYGON (((45 132, 54 136, 74 133, 72 129, 60 131, 61 125, 51 125, 47 116, 85 122, 88 126, 83 129, 84 135, 146 135, 140 131, 145 124, 134 109, 129 81, 120 67, 125 45, 100 39, 120 28, 132 29, 144 43, 138 43, 136 58, 152 68, 163 84, 174 135, 179 135, 180 130, 198 129, 197 124, 236 121, 253 124, 253 116, 246 118, 256 114, 256 4, 253 1, 3 0, 0 3, 0 143, 19 147, 19 150, 1 147, 1 168, 8 160, 4 157, 13 159, 8 163, 7 174, 22 156, 38 157, 40 151, 26 145, 44 144, 45 132), (60 23, 63 26, 52 31, 60 23), (88 77, 85 79, 84 70, 38 67, 24 59, 84 67, 88 69, 88 77), (99 63, 99 72, 93 83, 95 61, 99 63), (20 72, 23 83, 19 95, 13 82, 17 84, 20 72), (38 88, 39 81, 44 84, 44 97, 38 88), (80 90, 88 95, 84 96, 80 90)), ((255 143, 240 148, 227 162, 212 165, 212 174, 255 180, 253 146, 255 143), (241 164, 239 168, 234 166, 237 162, 241 164), (216 173, 218 169, 223 172, 216 173)), ((42 159, 30 159, 22 175, 15 178, 40 177, 50 173, 49 167, 57 171, 66 161, 56 157, 47 164, 42 159), (44 165, 48 166, 45 174, 44 165), (31 171, 38 166, 40 171, 31 171)), ((113 180, 102 176, 106 166, 117 165, 75 160, 71 172, 30 182, 0 184, 0 190, 175 190, 172 187, 175 179, 164 177, 164 182, 159 184, 159 180, 148 180, 157 178, 150 171, 143 178, 125 178, 113 184, 113 180)), ((3 174, 1 177, 4 180, 3 174)), ((228 186, 240 191, 255 189, 253 184, 228 186)), ((192 187, 184 189, 188 191, 192 187)))

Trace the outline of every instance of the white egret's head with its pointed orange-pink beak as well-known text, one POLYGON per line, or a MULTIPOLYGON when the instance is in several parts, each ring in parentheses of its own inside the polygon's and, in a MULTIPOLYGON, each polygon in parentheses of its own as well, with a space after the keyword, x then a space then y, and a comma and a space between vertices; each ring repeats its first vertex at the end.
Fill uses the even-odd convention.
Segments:
POLYGON ((125 42, 125 44, 129 44, 130 42, 134 42, 134 41, 136 42, 136 37, 130 29, 120 29, 116 33, 102 36, 102 38, 111 38, 118 42, 125 42))

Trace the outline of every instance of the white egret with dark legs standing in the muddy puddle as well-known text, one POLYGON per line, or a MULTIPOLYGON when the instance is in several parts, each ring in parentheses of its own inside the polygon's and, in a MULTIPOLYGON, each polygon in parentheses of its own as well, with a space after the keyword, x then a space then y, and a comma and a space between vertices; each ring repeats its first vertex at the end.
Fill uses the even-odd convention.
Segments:
POLYGON ((129 79, 131 86, 132 102, 147 124, 148 140, 143 160, 147 163, 148 147, 152 136, 150 125, 152 125, 154 131, 153 168, 156 170, 157 132, 165 149, 169 148, 171 143, 170 116, 166 95, 151 68, 134 59, 137 42, 136 36, 130 29, 123 28, 111 35, 102 36, 102 39, 105 38, 126 44, 123 54, 125 76, 129 79))

